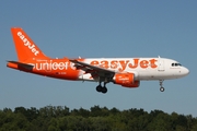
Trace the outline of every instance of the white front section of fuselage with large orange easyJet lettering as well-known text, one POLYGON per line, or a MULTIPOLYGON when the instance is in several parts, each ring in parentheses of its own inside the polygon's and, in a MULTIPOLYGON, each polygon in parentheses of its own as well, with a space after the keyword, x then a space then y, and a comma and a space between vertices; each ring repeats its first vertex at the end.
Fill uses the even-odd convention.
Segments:
MULTIPOLYGON (((129 72, 135 80, 171 80, 187 75, 189 70, 177 61, 166 58, 101 58, 85 59, 85 63, 101 67, 114 72, 129 72)), ((91 74, 81 74, 80 80, 95 81, 91 74)))

